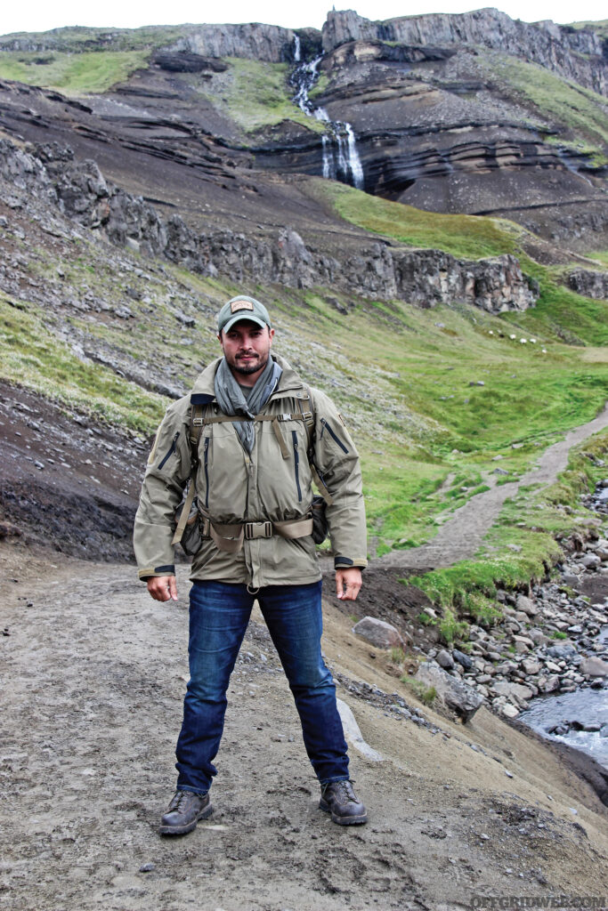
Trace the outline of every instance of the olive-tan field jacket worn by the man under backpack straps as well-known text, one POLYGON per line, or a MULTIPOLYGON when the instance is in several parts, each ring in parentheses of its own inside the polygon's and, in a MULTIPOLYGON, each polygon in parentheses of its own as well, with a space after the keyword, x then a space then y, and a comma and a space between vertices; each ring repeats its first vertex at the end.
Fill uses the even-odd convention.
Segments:
MULTIPOLYGON (((286 361, 274 354, 273 358, 283 367, 283 374, 260 415, 299 414, 297 399, 305 399, 307 387, 286 361)), ((174 572, 171 538, 175 514, 191 476, 191 402, 205 404, 206 415, 222 414, 213 387, 221 360, 202 372, 191 395, 170 404, 160 424, 135 519, 133 544, 139 578, 174 572)), ((327 507, 327 519, 335 568, 365 567, 366 517, 359 457, 332 401, 316 389, 311 389, 311 394, 314 464, 334 499, 327 507)), ((278 425, 283 447, 271 421, 255 421, 254 426, 256 440, 251 455, 242 448, 232 424, 202 427, 196 494, 201 513, 214 524, 234 523, 238 528, 243 521, 284 522, 305 517, 310 511, 313 489, 304 421, 283 420, 278 425)), ((310 535, 288 539, 273 534, 244 540, 237 553, 227 553, 211 538, 205 539, 193 558, 191 578, 241 582, 258 588, 315 582, 321 572, 310 535)))

